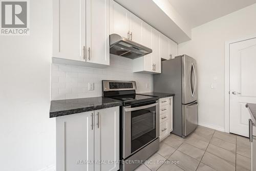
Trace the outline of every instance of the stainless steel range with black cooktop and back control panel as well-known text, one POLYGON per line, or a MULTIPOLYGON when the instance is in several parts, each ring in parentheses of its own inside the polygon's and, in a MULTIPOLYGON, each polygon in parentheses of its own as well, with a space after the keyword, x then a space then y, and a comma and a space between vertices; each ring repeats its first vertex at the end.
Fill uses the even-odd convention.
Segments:
POLYGON ((136 94, 135 81, 102 80, 102 94, 120 107, 122 170, 132 171, 159 149, 159 101, 136 94))

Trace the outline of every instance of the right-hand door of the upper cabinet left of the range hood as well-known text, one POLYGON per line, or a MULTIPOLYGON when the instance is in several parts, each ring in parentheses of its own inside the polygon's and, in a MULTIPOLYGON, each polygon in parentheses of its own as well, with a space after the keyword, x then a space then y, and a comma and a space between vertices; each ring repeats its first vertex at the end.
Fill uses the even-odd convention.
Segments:
POLYGON ((86 0, 86 61, 110 65, 109 0, 86 0))

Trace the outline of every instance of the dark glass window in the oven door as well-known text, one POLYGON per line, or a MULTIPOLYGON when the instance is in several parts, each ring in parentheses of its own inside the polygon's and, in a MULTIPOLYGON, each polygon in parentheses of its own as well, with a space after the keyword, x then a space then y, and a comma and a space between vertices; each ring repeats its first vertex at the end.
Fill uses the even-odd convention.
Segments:
POLYGON ((156 138, 156 106, 132 111, 131 122, 131 152, 133 153, 156 138))

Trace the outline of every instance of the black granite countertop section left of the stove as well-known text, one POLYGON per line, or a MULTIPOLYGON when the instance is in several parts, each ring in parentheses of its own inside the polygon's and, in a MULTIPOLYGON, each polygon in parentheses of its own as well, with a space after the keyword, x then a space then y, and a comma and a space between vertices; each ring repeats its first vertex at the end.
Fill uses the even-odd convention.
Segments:
POLYGON ((121 101, 106 97, 90 97, 51 101, 50 118, 95 111, 122 105, 121 101))

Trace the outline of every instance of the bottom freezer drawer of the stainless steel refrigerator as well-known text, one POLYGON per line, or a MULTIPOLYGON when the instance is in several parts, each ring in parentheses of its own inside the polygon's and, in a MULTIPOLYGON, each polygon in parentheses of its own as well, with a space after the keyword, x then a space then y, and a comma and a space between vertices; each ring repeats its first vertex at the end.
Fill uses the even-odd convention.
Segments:
POLYGON ((182 136, 187 136, 197 128, 198 103, 197 101, 182 105, 182 136))

